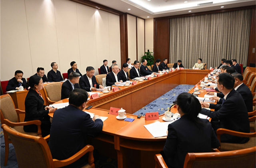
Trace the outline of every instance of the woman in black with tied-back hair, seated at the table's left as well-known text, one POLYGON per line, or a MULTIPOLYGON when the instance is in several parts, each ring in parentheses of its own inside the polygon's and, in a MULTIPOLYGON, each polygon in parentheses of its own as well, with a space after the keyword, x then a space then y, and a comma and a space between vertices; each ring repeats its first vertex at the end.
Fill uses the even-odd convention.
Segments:
MULTIPOLYGON (((44 99, 39 92, 44 87, 42 77, 31 76, 29 82, 26 83, 28 94, 25 99, 25 119, 24 121, 40 120, 42 136, 50 134, 51 122, 48 113, 53 113, 57 108, 52 108, 44 105, 44 99)), ((23 126, 25 132, 38 132, 38 126, 25 125, 23 126)))

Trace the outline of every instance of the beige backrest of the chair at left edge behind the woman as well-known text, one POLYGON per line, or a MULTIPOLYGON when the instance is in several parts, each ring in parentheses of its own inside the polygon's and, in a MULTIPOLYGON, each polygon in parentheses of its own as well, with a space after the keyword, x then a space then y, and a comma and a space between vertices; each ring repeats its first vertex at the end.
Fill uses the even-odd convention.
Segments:
POLYGON ((11 122, 16 123, 18 121, 18 115, 15 110, 12 97, 9 94, 0 96, 0 113, 1 123, 4 124, 4 119, 8 119, 11 122))

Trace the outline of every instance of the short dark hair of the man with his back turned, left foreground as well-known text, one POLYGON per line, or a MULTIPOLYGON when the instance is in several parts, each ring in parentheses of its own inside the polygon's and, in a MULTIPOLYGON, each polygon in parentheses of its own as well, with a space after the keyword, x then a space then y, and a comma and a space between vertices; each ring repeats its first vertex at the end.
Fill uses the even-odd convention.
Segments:
POLYGON ((73 89, 69 93, 69 99, 68 102, 70 105, 74 105, 76 107, 79 107, 84 102, 87 102, 88 99, 88 93, 83 89, 73 89))

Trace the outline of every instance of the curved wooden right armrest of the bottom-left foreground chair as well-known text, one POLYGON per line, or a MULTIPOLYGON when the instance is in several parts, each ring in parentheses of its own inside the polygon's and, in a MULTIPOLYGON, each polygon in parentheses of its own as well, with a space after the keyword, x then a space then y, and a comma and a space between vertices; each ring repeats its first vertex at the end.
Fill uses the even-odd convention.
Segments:
POLYGON ((87 152, 89 152, 89 157, 88 157, 88 163, 91 165, 94 165, 94 158, 93 158, 93 150, 94 147, 91 145, 86 145, 84 146, 84 148, 82 148, 79 152, 77 152, 76 154, 74 154, 73 156, 71 156, 68 159, 65 160, 57 160, 57 159, 53 159, 53 164, 55 168, 59 168, 59 167, 63 167, 63 166, 67 166, 69 164, 72 164, 74 162, 76 162, 76 160, 80 159, 82 156, 84 156, 84 154, 86 154, 87 152))

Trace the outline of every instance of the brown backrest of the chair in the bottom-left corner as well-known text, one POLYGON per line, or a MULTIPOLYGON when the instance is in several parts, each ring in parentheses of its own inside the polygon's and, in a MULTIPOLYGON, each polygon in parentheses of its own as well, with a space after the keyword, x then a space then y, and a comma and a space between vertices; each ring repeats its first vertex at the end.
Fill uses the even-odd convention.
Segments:
POLYGON ((44 138, 22 134, 7 125, 3 125, 2 128, 12 140, 20 168, 54 167, 50 148, 44 138))

